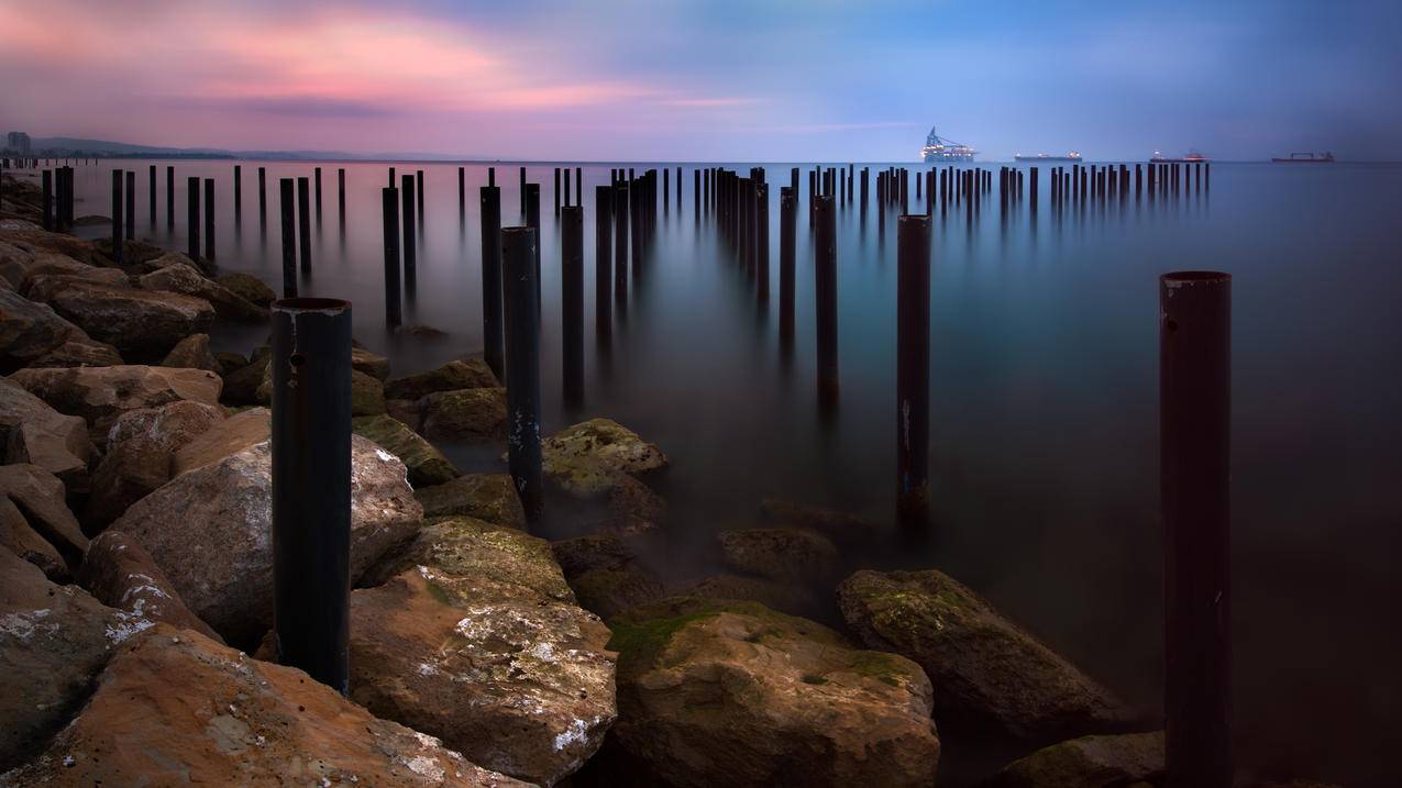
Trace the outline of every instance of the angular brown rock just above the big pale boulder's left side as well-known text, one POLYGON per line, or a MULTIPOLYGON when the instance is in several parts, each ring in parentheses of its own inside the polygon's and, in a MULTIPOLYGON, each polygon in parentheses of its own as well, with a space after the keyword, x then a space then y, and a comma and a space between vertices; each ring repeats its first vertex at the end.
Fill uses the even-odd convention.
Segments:
POLYGON ((224 419, 219 405, 181 400, 160 408, 128 411, 108 430, 107 454, 93 473, 83 509, 90 533, 170 481, 172 454, 224 419))

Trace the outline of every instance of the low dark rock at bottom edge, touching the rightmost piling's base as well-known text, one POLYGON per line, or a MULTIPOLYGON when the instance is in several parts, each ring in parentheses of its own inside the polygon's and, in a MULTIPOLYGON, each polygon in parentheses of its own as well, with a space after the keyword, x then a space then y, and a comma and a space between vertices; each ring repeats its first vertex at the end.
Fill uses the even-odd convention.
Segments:
POLYGON ((1164 778, 1164 732, 1082 736, 1012 761, 986 788, 1119 788, 1164 778))

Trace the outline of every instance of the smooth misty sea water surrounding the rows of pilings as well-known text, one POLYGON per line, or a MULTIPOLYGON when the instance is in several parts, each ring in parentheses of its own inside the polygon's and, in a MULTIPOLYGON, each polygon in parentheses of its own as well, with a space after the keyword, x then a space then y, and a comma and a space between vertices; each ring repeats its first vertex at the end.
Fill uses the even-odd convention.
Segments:
MULTIPOLYGON (((280 289, 278 178, 311 163, 243 164, 241 220, 233 163, 79 165, 77 213, 109 213, 109 170, 137 172, 137 237, 185 248, 185 178, 217 182, 217 265, 280 289), (165 165, 175 167, 175 226, 165 223, 165 165), (257 168, 268 168, 266 222, 257 168)), ((313 269, 303 294, 353 303, 356 338, 393 360, 395 376, 481 351, 478 186, 467 165, 423 171, 416 287, 405 324, 384 325, 381 163, 321 163, 313 269), (346 171, 345 216, 336 168, 346 171)), ((997 171, 997 164, 983 164, 997 171)), ((573 164, 571 164, 573 167, 573 164)), ((642 172, 648 165, 634 164, 642 172)), ((674 167, 674 165, 673 165, 674 167)), ((730 165, 742 172, 749 164, 730 165)), ((594 186, 607 165, 583 165, 586 393, 561 395, 559 229, 552 164, 541 184, 544 429, 601 415, 670 456, 659 482, 670 519, 656 568, 679 583, 718 572, 712 534, 758 522, 764 496, 893 523, 896 464, 896 213, 843 206, 838 233, 840 405, 820 416, 815 370, 815 278, 798 222, 796 337, 778 335, 778 186, 789 164, 767 165, 770 303, 693 205, 658 209, 641 275, 617 304, 613 337, 593 331, 594 186)), ((872 165, 872 201, 875 171, 872 165)), ((924 168, 921 168, 924 170, 924 168)), ((858 167, 858 181, 859 181, 858 167)), ((673 170, 674 175, 674 170, 673 170)), ((1158 519, 1158 290, 1171 269, 1234 275, 1232 606, 1239 761, 1270 773, 1370 784, 1402 746, 1402 635, 1394 571, 1402 548, 1402 341, 1394 304, 1402 168, 1214 164, 1209 191, 1088 201, 1057 210, 1046 193, 1004 220, 994 193, 974 222, 937 208, 931 293, 931 478, 934 526, 848 555, 851 566, 934 566, 970 585, 1126 698, 1161 695, 1162 558, 1158 519)), ((501 164, 503 224, 517 216, 517 170, 501 164)), ((660 177, 659 177, 660 181, 660 177)), ((676 184, 673 182, 673 191, 676 184)), ((911 210, 923 212, 914 198, 911 210)), ((660 182, 659 182, 660 191, 660 182)), ((81 227, 88 236, 105 226, 81 227)), ((248 353, 266 328, 226 328, 216 349, 248 353)), ((464 470, 502 470, 495 450, 442 446, 464 470)), ((830 589, 824 610, 836 623, 830 589)), ((1007 753, 946 742, 945 770, 998 766, 1007 753), (983 760, 987 763, 981 763, 983 760)), ((1014 754, 1018 754, 1014 752, 1014 754)))

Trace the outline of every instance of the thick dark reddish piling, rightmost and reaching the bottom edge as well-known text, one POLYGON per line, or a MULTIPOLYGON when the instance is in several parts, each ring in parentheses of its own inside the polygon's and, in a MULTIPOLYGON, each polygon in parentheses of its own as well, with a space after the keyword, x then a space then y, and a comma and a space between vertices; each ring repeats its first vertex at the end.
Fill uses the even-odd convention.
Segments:
POLYGON ((1228 788, 1231 276, 1159 278, 1164 714, 1171 788, 1228 788))

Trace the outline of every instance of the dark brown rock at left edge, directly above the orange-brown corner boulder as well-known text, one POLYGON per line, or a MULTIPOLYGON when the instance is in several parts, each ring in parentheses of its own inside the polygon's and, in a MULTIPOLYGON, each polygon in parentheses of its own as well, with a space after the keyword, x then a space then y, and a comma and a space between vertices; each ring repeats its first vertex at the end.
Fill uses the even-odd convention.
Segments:
POLYGON ((34 757, 87 700, 111 648, 146 627, 0 550, 0 774, 34 757))

